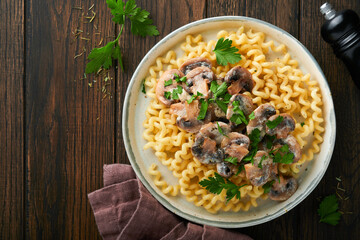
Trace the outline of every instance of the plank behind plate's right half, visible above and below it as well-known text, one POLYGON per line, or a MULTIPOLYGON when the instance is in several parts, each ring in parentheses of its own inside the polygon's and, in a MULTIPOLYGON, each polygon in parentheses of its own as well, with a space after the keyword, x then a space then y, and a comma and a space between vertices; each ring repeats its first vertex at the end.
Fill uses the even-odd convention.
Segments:
MULTIPOLYGON (((299 37, 299 2, 287 0, 274 1, 228 1, 209 0, 208 17, 222 15, 238 15, 267 21, 299 37), (291 10, 289 10, 291 9, 291 10)), ((302 209, 303 211, 303 209, 302 209)), ((297 227, 302 212, 299 206, 275 220, 258 226, 242 228, 239 232, 246 233, 254 239, 268 239, 269 234, 276 239, 301 239, 301 229, 297 227), (289 227, 291 226, 291 227, 289 227)))

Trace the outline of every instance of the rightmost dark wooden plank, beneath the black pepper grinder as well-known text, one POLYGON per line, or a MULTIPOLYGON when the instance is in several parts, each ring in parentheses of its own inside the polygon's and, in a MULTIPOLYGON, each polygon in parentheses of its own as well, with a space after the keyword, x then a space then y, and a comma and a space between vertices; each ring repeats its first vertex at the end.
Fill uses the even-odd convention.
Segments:
MULTIPOLYGON (((319 186, 302 204, 304 221, 299 222, 303 229, 303 239, 356 239, 360 236, 360 90, 355 87, 344 64, 335 57, 331 47, 322 40, 320 29, 325 19, 319 11, 324 1, 301 1, 301 42, 309 49, 323 69, 330 85, 335 105, 337 136, 336 145, 329 168, 319 186), (342 187, 350 194, 347 201, 340 201, 344 214, 338 226, 329 227, 318 223, 316 210, 319 203, 314 198, 335 193, 337 181, 341 176, 342 187)), ((331 1, 337 10, 353 9, 360 14, 359 1, 331 1)), ((341 192, 341 191, 340 191, 341 192)))

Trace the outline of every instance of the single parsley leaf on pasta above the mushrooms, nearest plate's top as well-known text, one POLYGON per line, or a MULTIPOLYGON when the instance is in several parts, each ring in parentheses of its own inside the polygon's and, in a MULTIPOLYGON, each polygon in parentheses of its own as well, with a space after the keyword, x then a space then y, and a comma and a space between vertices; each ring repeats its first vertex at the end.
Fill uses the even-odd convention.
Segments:
POLYGON ((226 66, 228 63, 234 64, 241 60, 241 55, 237 53, 239 49, 232 47, 232 40, 220 38, 213 52, 216 55, 216 62, 226 66))

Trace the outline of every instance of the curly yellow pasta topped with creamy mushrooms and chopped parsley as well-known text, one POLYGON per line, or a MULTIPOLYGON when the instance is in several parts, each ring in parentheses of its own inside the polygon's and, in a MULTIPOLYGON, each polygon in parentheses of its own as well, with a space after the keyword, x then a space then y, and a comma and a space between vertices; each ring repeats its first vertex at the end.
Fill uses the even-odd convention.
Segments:
POLYGON ((218 64, 217 40, 199 34, 186 36, 181 57, 168 51, 149 68, 144 148, 178 184, 164 181, 156 163, 148 172, 164 194, 211 213, 285 201, 323 141, 318 83, 262 32, 240 27, 217 38, 231 40, 241 60, 218 64))

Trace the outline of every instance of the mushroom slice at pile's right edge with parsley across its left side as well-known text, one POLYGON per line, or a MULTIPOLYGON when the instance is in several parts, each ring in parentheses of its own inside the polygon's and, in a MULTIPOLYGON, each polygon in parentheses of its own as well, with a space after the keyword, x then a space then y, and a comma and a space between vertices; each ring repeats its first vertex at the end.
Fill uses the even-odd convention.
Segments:
POLYGON ((270 136, 276 135, 276 138, 286 138, 286 136, 295 130, 295 120, 287 113, 276 114, 269 117, 268 121, 274 121, 279 116, 283 117, 283 120, 273 129, 266 126, 266 133, 270 136))

